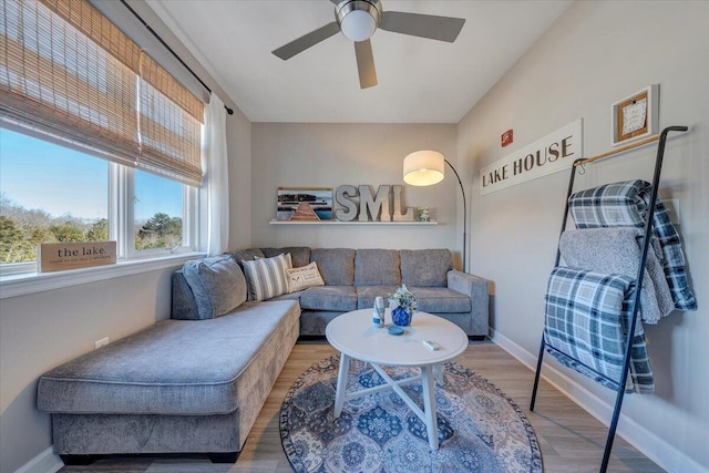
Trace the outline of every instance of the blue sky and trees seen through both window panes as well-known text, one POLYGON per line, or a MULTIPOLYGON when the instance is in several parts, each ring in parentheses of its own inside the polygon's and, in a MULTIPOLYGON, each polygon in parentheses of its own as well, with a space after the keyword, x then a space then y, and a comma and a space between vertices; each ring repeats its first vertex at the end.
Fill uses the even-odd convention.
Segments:
MULTIPOLYGON (((135 249, 181 246, 183 185, 134 176, 135 249)), ((35 260, 41 243, 109 240, 107 183, 106 161, 0 128, 0 264, 35 260)))

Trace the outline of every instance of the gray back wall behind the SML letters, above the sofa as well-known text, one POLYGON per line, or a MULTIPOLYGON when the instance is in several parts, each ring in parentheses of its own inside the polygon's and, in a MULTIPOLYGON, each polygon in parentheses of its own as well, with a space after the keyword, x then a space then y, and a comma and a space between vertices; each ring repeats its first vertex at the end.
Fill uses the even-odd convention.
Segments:
POLYGON ((462 197, 454 175, 434 186, 404 185, 403 158, 435 150, 455 165, 456 126, 427 124, 254 123, 251 241, 320 248, 451 248, 462 253, 462 197), (403 206, 432 208, 438 226, 269 225, 279 186, 403 185, 403 206), (459 235, 460 234, 460 235, 459 235), (458 250, 456 250, 458 249, 458 250))

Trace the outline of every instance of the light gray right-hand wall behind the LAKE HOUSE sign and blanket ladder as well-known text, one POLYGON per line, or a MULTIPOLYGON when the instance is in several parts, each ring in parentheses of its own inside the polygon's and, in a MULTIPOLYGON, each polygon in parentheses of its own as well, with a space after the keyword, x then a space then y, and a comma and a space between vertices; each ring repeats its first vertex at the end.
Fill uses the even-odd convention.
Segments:
MULTIPOLYGON (((481 196, 480 169, 579 117, 585 156, 609 151, 610 105, 653 83, 660 84, 660 126, 691 125, 666 148, 660 193, 679 199, 679 230, 700 309, 645 327, 657 391, 626 397, 619 424, 674 472, 709 465, 708 24, 705 1, 578 1, 459 125, 459 162, 475 179, 472 273, 494 281, 495 340, 530 363, 538 350, 568 173, 481 196), (501 148, 507 128, 514 128, 514 143, 501 148)), ((653 145, 589 165, 575 188, 651 181, 655 152, 653 145)), ((558 370, 564 377, 554 381, 608 422, 604 405, 615 393, 558 370)))

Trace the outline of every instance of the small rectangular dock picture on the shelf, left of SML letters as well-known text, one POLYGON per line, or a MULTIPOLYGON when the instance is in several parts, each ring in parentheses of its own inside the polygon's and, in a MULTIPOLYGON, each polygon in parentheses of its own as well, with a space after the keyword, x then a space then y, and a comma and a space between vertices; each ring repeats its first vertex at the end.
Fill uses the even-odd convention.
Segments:
POLYGON ((277 220, 332 219, 332 187, 278 187, 277 220))

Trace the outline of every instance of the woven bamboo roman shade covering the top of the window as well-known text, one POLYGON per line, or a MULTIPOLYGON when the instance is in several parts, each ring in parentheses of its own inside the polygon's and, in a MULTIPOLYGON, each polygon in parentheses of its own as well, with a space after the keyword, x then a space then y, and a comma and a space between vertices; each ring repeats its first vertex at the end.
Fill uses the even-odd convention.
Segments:
POLYGON ((0 114, 201 184, 198 99, 86 0, 0 4, 0 114))

